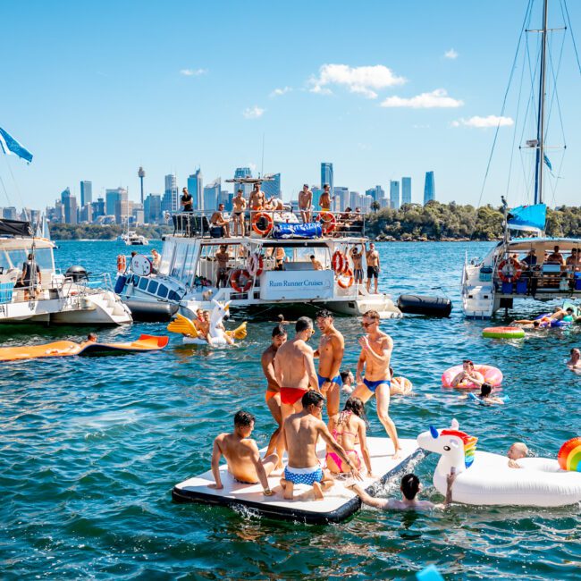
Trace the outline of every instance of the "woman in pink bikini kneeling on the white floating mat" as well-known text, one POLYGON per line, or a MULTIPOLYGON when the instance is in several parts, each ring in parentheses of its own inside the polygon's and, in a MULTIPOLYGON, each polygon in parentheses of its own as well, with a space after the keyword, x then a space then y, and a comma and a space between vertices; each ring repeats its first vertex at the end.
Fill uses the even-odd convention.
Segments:
MULTIPOLYGON (((359 400, 359 398, 349 398, 345 402, 343 411, 330 418, 329 430, 335 441, 345 450, 349 460, 354 462, 358 468, 361 467, 361 458, 358 451, 355 450, 355 443, 358 442, 360 444, 363 460, 367 468, 367 476, 371 476, 371 459, 367 449, 367 427, 364 418, 365 407, 363 401, 359 400)), ((325 460, 327 469, 332 474, 350 472, 350 468, 344 466, 341 458, 328 448, 325 460)))

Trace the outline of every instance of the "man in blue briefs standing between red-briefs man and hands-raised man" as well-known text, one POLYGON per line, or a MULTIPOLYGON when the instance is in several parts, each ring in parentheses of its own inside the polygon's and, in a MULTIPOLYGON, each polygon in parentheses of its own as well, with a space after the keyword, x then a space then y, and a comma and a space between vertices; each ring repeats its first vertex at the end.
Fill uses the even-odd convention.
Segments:
POLYGON ((333 313, 324 309, 316 314, 316 326, 321 332, 319 348, 315 357, 319 358, 319 389, 327 399, 327 415, 339 413, 341 403, 341 361, 345 351, 343 335, 333 325, 333 313))

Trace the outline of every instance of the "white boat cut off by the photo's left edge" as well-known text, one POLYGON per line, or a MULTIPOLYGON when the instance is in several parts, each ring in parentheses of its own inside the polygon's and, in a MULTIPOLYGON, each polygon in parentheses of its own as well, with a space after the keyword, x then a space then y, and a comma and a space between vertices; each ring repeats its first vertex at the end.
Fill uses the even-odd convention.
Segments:
POLYGON ((51 240, 33 236, 28 222, 0 220, 0 323, 131 323, 130 309, 113 290, 90 288, 82 267, 57 273, 54 248, 51 240), (40 276, 22 286, 29 254, 40 276))

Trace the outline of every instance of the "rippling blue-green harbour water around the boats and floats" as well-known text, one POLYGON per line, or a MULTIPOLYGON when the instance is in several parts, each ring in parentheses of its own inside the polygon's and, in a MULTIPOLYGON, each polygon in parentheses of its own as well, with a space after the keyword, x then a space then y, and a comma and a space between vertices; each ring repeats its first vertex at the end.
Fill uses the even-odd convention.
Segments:
MULTIPOLYGON (((114 271, 116 242, 63 242, 57 264, 114 271)), ((161 243, 154 245, 161 248, 161 243)), ((513 343, 481 337, 486 324, 460 315, 464 254, 487 244, 380 244, 383 290, 447 293, 450 319, 407 316, 386 321, 395 342, 393 366, 415 386, 394 399, 400 435, 426 426, 460 427, 481 450, 503 453, 524 440, 535 455, 554 457, 581 432, 581 377, 563 361, 581 343, 555 330, 513 343), (440 287, 441 290, 432 290, 440 287), (443 392, 442 370, 462 358, 501 367, 509 404, 484 408, 443 392), (433 398, 426 398, 431 395, 433 398)), ((535 307, 541 312, 541 307, 535 307)), ((358 321, 341 318, 346 364, 358 357, 358 321)), ((434 563, 461 578, 578 578, 579 507, 561 509, 454 506, 445 514, 363 509, 349 522, 303 526, 171 501, 173 484, 206 470, 215 434, 232 412, 257 415, 265 445, 274 429, 264 403, 259 353, 272 324, 250 321, 248 340, 233 349, 182 346, 173 336, 162 352, 124 357, 63 358, 0 364, 0 570, 4 578, 267 578, 410 577, 434 563), (243 379, 241 379, 243 378, 243 379)), ((89 329, 0 330, 3 344, 80 339, 89 329)), ((115 341, 164 333, 164 324, 101 330, 115 341)), ((371 404, 375 408, 375 404, 371 404)), ((370 410, 372 435, 382 435, 370 410)), ((414 467, 426 497, 437 458, 414 467)), ((386 494, 395 493, 390 484, 386 494)))

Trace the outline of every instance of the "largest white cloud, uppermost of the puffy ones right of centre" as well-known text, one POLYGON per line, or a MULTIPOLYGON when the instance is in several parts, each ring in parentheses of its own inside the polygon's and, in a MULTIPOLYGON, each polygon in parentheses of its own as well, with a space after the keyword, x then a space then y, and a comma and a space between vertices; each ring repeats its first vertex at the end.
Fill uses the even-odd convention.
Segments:
POLYGON ((350 67, 347 64, 324 64, 319 69, 319 76, 309 80, 312 93, 329 95, 329 85, 339 85, 370 99, 377 97, 376 90, 403 85, 406 80, 393 74, 383 64, 374 66, 350 67))

